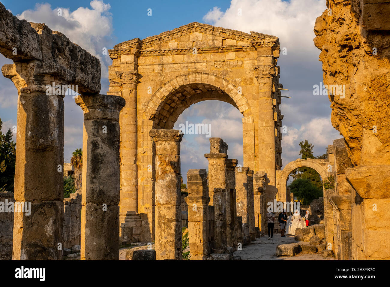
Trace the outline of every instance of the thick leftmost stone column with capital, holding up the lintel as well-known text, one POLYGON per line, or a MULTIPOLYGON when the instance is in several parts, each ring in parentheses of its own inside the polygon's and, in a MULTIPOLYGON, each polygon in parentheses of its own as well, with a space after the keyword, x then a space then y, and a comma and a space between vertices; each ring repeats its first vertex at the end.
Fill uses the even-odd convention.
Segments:
POLYGON ((19 95, 14 198, 31 203, 31 214, 14 214, 13 260, 62 259, 64 94, 47 92, 55 80, 42 70, 31 62, 2 67, 19 95))

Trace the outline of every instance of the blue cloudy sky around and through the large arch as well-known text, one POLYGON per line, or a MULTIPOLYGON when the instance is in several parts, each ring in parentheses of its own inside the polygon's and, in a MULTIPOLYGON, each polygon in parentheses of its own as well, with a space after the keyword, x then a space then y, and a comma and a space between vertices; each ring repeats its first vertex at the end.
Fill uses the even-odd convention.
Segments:
MULTIPOLYGON (((314 154, 325 152, 339 132, 330 123, 330 102, 327 96, 314 96, 313 85, 322 82, 319 50, 314 46, 314 22, 325 10, 325 0, 198 0, 198 1, 2 1, 12 14, 20 19, 46 23, 51 29, 64 33, 71 41, 96 55, 102 66, 102 89, 108 91, 108 55, 103 47, 133 38, 144 39, 198 21, 214 26, 271 34, 280 38, 280 82, 289 91, 283 95, 280 109, 284 114, 282 159, 284 165, 299 158, 299 142, 308 139, 314 144, 314 154), (57 9, 64 11, 57 17, 57 9), (152 9, 152 16, 147 9, 152 9), (237 9, 242 9, 242 16, 237 9), (59 20, 58 20, 59 19, 59 20)), ((0 55, 0 65, 11 63, 0 55)), ((5 128, 16 125, 17 91, 9 79, 0 77, 0 117, 5 128)), ((71 152, 82 146, 83 116, 71 97, 65 97, 64 157, 69 161, 71 152)), ((176 122, 211 123, 212 137, 222 137, 229 145, 229 157, 242 164, 241 114, 228 103, 206 101, 192 105, 176 122)), ((182 143, 182 174, 191 168, 207 168, 204 153, 209 141, 204 135, 185 135, 182 143)))

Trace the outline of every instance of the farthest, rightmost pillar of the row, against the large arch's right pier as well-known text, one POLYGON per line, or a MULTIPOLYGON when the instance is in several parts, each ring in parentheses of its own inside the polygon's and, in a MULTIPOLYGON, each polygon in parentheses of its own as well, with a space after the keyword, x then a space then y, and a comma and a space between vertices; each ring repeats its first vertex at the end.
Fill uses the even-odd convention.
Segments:
POLYGON ((255 226, 259 232, 266 231, 266 205, 264 202, 264 191, 266 189, 267 174, 260 171, 253 176, 254 187, 254 208, 255 208, 255 226))

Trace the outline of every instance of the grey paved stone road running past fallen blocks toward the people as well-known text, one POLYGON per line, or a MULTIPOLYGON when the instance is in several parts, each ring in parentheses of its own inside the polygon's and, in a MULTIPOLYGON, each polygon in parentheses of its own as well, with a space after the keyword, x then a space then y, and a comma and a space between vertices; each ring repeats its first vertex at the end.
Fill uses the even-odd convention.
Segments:
POLYGON ((268 240, 267 236, 256 238, 243 247, 242 250, 234 252, 234 255, 241 256, 241 260, 335 260, 334 258, 324 258, 321 253, 297 254, 295 256, 276 256, 276 247, 279 244, 296 242, 293 236, 280 237, 274 234, 273 239, 268 240))

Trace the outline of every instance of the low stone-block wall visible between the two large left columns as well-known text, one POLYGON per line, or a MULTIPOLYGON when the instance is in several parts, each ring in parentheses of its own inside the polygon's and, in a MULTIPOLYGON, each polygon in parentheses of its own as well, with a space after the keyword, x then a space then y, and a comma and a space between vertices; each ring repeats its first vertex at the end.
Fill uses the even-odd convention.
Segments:
POLYGON ((81 245, 81 193, 64 198, 63 248, 81 245))

